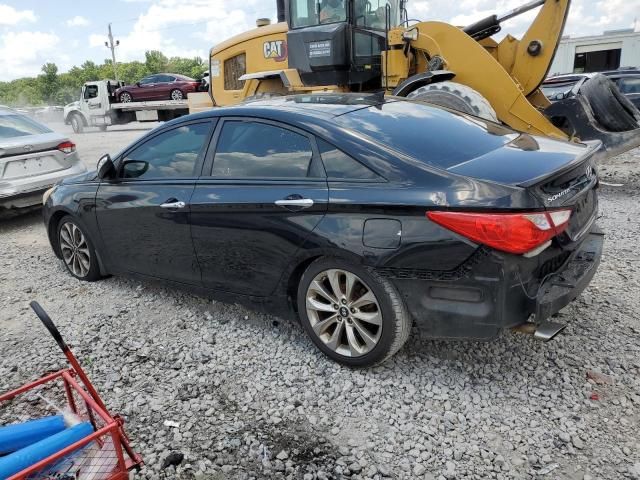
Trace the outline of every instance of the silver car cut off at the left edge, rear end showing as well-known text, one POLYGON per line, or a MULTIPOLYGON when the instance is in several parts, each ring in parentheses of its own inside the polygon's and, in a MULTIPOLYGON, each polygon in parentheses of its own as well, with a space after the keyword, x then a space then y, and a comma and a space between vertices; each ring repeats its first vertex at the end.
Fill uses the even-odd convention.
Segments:
POLYGON ((69 138, 0 108, 0 215, 42 205, 45 190, 85 171, 69 138))

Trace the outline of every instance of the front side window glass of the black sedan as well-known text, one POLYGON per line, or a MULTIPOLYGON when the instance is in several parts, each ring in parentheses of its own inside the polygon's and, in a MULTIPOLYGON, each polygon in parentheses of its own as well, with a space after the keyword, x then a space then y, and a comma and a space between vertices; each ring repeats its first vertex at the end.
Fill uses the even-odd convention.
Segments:
POLYGON ((210 126, 209 122, 184 125, 153 137, 127 153, 121 176, 145 180, 193 177, 210 126))

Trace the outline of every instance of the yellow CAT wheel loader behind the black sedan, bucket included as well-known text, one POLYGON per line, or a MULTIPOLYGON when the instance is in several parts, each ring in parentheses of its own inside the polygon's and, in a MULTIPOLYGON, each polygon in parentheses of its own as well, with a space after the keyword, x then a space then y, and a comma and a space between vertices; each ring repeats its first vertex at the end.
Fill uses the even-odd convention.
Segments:
MULTIPOLYGON (((558 139, 602 141, 615 155, 640 145, 640 112, 596 75, 577 96, 541 92, 570 0, 533 0, 459 28, 407 17, 407 0, 277 0, 278 23, 211 49, 210 100, 194 110, 272 95, 370 92, 413 98, 558 139), (492 36, 540 8, 521 39, 492 36)), ((586 84, 585 84, 586 86, 586 84)))

